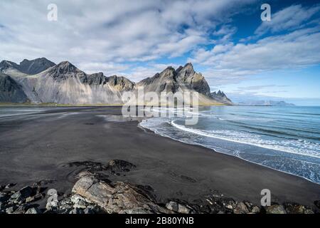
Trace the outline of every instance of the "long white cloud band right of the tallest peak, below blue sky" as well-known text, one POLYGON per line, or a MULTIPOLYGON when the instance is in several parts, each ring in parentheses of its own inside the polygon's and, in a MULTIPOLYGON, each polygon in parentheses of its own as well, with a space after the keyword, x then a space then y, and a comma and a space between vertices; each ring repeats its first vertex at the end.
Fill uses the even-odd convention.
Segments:
POLYGON ((208 66, 211 78, 230 83, 242 77, 320 63, 319 26, 262 38, 256 43, 228 43, 200 49, 188 61, 208 66))

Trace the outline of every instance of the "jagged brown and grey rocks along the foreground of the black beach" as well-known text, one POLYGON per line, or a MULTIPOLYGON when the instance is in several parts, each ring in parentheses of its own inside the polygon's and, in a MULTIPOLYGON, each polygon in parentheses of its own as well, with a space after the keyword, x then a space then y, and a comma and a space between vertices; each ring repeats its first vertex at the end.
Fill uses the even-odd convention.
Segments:
POLYGON ((112 182, 107 179, 112 172, 130 172, 137 168, 124 160, 100 162, 70 162, 63 167, 82 170, 71 194, 48 189, 53 180, 41 180, 20 190, 12 190, 16 184, 0 186, 0 214, 314 214, 319 213, 319 201, 311 209, 301 204, 286 202, 260 207, 247 201, 225 197, 218 191, 202 196, 193 202, 182 199, 164 199, 159 204, 155 190, 150 186, 129 182, 112 182), (83 167, 85 168, 83 170, 83 167), (107 174, 107 175, 106 175, 107 174), (56 194, 56 199, 48 197, 56 194), (43 202, 46 202, 43 204, 43 202))

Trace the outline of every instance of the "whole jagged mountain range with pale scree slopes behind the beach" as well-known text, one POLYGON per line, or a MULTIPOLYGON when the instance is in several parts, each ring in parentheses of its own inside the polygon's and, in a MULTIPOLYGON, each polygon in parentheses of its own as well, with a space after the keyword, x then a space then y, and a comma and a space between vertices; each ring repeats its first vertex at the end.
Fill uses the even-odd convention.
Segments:
MULTIPOLYGON (((232 105, 221 92, 210 93, 210 87, 201 73, 196 73, 191 63, 177 69, 169 66, 161 73, 138 83, 122 76, 107 77, 103 73, 87 74, 72 63, 55 64, 46 58, 0 63, 1 103, 58 103, 70 105, 118 105, 123 104, 126 91, 137 93, 175 94, 176 92, 199 93, 199 105, 232 105), (170 93, 171 92, 171 93, 170 93)), ((151 101, 144 103, 155 105, 151 101)))

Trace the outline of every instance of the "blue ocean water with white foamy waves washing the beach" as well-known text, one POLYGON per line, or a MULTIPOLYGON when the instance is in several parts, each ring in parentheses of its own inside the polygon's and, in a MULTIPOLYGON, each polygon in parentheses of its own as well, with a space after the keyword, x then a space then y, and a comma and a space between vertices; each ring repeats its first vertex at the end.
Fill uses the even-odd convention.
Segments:
MULTIPOLYGON (((153 111, 183 113, 179 108, 153 111)), ((186 125, 185 118, 149 118, 141 125, 320 184, 320 107, 215 106, 201 108, 196 125, 186 125)))

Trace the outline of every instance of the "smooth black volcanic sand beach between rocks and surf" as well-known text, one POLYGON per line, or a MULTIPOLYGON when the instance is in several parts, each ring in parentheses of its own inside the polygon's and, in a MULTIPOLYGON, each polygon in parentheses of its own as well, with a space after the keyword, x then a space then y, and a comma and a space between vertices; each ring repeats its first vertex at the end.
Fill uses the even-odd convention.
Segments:
POLYGON ((137 168, 110 180, 150 185, 159 202, 191 202, 218 190, 259 204, 265 188, 274 202, 311 206, 320 199, 320 185, 300 177, 163 138, 138 128, 137 121, 110 122, 101 115, 121 115, 121 108, 56 108, 0 118, 0 185, 16 182, 18 188, 46 179, 55 180, 50 187, 70 192, 80 168, 66 163, 119 159, 137 168))

